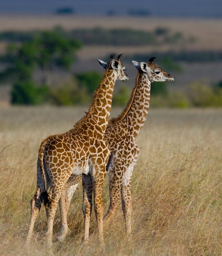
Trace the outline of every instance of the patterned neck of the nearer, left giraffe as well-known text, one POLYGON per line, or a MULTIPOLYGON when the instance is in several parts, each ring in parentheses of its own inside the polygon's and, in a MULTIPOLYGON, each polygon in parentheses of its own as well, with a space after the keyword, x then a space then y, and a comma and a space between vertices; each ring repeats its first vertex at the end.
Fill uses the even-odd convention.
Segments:
POLYGON ((112 93, 116 81, 117 72, 115 70, 106 70, 99 87, 93 94, 92 104, 86 116, 91 125, 96 125, 104 133, 110 117, 112 105, 112 93))

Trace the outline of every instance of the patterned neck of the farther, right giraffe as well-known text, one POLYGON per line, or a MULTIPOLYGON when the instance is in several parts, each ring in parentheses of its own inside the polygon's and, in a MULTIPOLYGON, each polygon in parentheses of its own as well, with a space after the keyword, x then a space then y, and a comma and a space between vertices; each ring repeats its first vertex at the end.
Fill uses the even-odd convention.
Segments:
POLYGON ((128 111, 125 112, 125 116, 122 114, 122 121, 127 123, 129 129, 132 131, 131 134, 134 137, 138 135, 147 118, 150 88, 151 82, 149 81, 147 74, 138 72, 132 104, 130 107, 126 106, 125 109, 128 109, 128 111))

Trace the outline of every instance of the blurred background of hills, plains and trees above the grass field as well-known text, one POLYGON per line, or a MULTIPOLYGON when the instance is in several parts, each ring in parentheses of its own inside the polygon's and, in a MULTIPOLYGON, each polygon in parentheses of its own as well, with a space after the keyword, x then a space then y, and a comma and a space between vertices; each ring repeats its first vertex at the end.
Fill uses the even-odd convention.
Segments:
POLYGON ((220 0, 0 2, 0 106, 87 105, 109 61, 123 54, 130 80, 117 82, 124 106, 137 70, 155 63, 174 76, 152 83, 152 107, 222 106, 220 0))

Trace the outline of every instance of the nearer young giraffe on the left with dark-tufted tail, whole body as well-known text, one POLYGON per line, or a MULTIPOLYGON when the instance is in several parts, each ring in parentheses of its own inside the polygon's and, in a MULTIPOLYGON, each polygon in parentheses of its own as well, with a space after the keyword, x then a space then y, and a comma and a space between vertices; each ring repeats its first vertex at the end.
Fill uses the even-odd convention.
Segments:
POLYGON ((116 80, 127 81, 128 76, 121 64, 121 55, 115 60, 114 54, 111 54, 108 63, 101 61, 100 64, 106 65, 106 72, 94 92, 86 115, 68 132, 51 135, 42 141, 37 160, 37 190, 31 199, 27 244, 31 242, 35 219, 44 202, 48 226, 45 243, 52 245, 53 220, 64 185, 70 175, 80 174, 83 183, 84 242, 89 237, 93 193, 98 238, 103 243, 102 190, 110 155, 104 132, 110 116, 114 83, 116 80))

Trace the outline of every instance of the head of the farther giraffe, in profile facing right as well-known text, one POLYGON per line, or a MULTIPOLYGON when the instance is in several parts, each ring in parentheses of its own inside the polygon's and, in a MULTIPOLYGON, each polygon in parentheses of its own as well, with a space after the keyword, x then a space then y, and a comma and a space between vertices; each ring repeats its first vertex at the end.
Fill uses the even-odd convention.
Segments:
POLYGON ((137 61, 132 61, 132 63, 135 65, 135 67, 138 70, 141 70, 142 72, 147 74, 150 82, 174 81, 173 76, 171 76, 170 74, 162 70, 162 68, 155 65, 154 59, 155 57, 150 58, 148 63, 145 63, 145 62, 139 63, 137 61))

